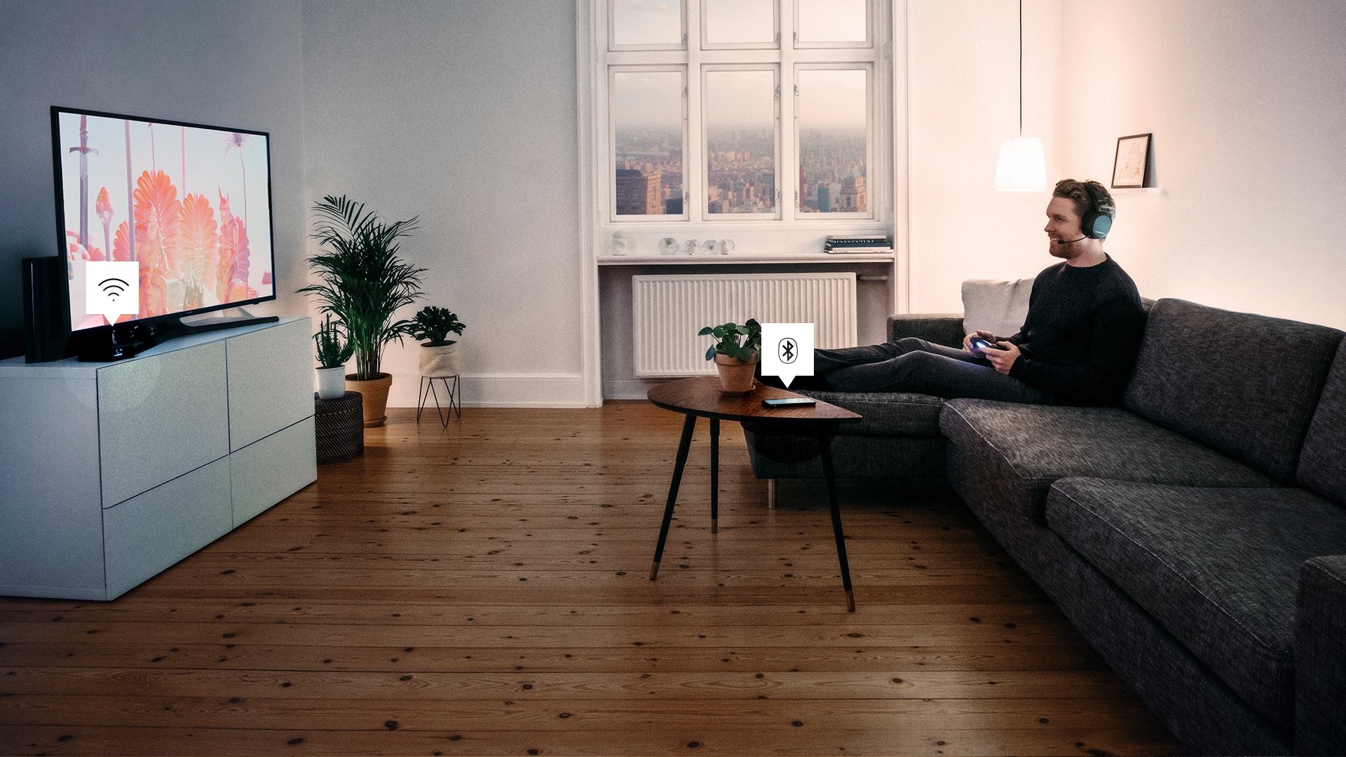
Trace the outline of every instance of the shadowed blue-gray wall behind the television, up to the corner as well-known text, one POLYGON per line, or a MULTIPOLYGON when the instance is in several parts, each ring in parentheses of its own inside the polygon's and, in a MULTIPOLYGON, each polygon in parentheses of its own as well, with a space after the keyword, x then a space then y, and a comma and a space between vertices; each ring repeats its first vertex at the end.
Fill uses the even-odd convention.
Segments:
POLYGON ((51 105, 271 132, 279 304, 303 284, 300 7, 0 0, 0 354, 23 352, 19 261, 59 252, 51 105))

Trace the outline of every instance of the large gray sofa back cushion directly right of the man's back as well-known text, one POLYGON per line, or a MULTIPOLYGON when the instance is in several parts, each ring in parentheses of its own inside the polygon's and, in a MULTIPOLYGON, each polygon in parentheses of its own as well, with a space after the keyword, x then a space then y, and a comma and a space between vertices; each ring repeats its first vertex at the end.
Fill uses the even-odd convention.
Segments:
POLYGON ((1288 484, 1341 339, 1326 326, 1162 299, 1123 404, 1288 484), (1217 354, 1230 350, 1237 362, 1217 354))

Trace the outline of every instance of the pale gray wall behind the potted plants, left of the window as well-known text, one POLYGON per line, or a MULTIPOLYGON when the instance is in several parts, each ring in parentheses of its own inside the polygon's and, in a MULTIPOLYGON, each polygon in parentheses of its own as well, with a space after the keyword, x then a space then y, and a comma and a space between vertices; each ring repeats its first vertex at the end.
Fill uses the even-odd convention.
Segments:
MULTIPOLYGON (((402 253, 467 323, 467 404, 584 404, 573 3, 306 0, 303 39, 304 202, 420 216, 402 253)), ((416 349, 384 356, 392 405, 416 349)))

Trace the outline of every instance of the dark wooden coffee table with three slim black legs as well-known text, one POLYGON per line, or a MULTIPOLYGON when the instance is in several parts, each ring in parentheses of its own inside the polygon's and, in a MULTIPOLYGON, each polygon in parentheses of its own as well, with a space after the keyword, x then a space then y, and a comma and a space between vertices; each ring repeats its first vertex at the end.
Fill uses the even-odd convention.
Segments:
POLYGON ((686 466, 686 453, 692 446, 692 431, 697 418, 711 419, 711 533, 719 532, 719 489, 720 489, 720 420, 747 420, 771 426, 794 426, 812 430, 818 439, 818 455, 822 463, 822 480, 828 488, 828 504, 832 508, 832 535, 837 543, 837 560, 841 563, 841 587, 845 589, 847 610, 855 612, 855 594, 851 590, 851 567, 845 558, 845 540, 841 533, 841 511, 837 506, 836 480, 832 477, 832 436, 841 423, 853 423, 861 416, 821 400, 802 407, 770 408, 762 400, 774 397, 802 397, 794 392, 760 387, 742 397, 720 395, 716 376, 697 376, 660 384, 649 391, 649 399, 657 407, 681 412, 682 439, 677 446, 677 462, 673 465, 673 481, 669 484, 669 500, 664 508, 664 523, 660 525, 660 540, 654 547, 654 564, 650 567, 650 581, 658 578, 660 558, 664 556, 664 543, 669 536, 669 523, 673 520, 673 504, 677 502, 678 484, 686 466))

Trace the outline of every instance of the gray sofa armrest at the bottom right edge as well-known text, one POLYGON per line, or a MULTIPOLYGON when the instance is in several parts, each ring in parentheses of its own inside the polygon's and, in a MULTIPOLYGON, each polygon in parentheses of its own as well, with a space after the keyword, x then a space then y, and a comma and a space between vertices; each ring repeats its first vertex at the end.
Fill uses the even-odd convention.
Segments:
POLYGON ((1346 555, 1299 568, 1295 754, 1346 754, 1346 555))

